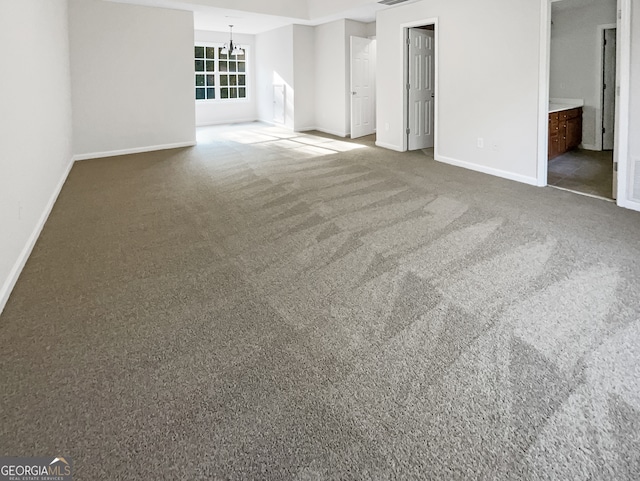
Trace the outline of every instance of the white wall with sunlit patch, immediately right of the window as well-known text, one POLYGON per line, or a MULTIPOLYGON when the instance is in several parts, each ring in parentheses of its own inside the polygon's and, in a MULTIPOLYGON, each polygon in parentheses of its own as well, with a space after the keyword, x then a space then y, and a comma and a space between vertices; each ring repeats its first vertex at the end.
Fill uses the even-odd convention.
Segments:
POLYGON ((294 129, 293 26, 256 35, 258 118, 273 122, 273 86, 286 86, 285 126, 294 129))

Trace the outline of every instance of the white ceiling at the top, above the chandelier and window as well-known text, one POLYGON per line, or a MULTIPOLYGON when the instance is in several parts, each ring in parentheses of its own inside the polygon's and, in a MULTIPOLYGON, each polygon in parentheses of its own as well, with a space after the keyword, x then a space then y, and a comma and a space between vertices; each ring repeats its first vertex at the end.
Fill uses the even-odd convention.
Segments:
MULTIPOLYGON (((288 0, 295 2, 308 2, 305 12, 316 12, 319 16, 313 18, 308 13, 300 15, 301 9, 297 9, 298 15, 287 17, 283 15, 269 15, 266 13, 254 13, 247 10, 221 8, 215 5, 230 5, 233 2, 228 0, 107 0, 118 3, 130 3, 152 7, 172 8, 177 10, 189 10, 194 13, 194 27, 196 30, 211 30, 216 32, 226 32, 229 25, 233 25, 234 33, 257 34, 290 25, 293 23, 301 25, 320 25, 340 18, 358 20, 360 22, 373 22, 376 19, 376 12, 385 7, 380 5, 378 0, 288 0)), ((415 0, 408 0, 415 1, 415 0)), ((263 10, 271 2, 274 8, 279 6, 279 11, 287 11, 284 0, 276 3, 273 0, 260 0, 263 10)), ((407 2, 408 3, 408 2, 407 2)), ((242 6, 246 8, 245 1, 242 6)), ((299 4, 298 4, 299 5, 299 4)), ((278 10, 276 10, 278 11, 278 10)))

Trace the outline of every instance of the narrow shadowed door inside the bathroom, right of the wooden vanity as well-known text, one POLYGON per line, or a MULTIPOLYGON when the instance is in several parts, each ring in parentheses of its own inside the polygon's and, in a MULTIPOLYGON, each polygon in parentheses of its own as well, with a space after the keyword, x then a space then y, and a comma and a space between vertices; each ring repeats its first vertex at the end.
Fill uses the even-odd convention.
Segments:
POLYGON ((616 117, 616 29, 604 30, 602 74, 602 150, 613 150, 616 117))

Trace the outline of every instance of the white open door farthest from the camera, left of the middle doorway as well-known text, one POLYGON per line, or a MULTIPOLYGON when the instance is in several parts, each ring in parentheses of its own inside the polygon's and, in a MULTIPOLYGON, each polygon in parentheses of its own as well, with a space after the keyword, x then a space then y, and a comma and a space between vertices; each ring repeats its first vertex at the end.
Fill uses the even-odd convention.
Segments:
POLYGON ((375 131, 375 40, 351 37, 351 138, 375 131))

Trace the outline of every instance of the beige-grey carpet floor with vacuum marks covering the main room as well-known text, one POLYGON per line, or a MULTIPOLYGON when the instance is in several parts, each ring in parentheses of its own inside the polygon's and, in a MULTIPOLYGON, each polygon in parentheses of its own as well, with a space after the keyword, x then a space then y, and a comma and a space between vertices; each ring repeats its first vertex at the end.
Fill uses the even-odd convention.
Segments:
POLYGON ((0 316, 76 480, 640 479, 640 214, 260 124, 77 163, 0 316))

